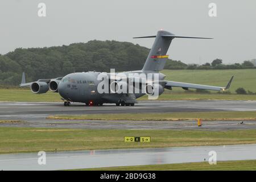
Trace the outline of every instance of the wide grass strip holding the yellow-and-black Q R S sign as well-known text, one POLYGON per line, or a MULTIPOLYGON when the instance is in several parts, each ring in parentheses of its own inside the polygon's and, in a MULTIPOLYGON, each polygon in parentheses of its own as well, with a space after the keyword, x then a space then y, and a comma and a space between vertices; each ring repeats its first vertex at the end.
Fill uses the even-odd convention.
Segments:
POLYGON ((0 127, 0 153, 256 143, 256 130, 90 130, 0 127), (123 137, 150 136, 150 143, 123 137))

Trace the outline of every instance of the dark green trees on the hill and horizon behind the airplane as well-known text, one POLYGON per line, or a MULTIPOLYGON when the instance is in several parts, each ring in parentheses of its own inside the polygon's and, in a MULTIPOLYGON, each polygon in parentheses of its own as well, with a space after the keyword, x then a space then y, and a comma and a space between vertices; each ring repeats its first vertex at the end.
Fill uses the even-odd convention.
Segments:
MULTIPOLYGON (((0 55, 0 85, 18 85, 22 72, 27 81, 39 78, 55 78, 72 72, 131 71, 142 69, 150 49, 129 42, 91 40, 69 46, 44 48, 17 48, 0 55)), ((212 64, 191 65, 168 60, 165 69, 237 69, 252 68, 249 63, 223 65, 214 60, 212 64), (213 63, 214 62, 214 63, 213 63), (216 64, 215 64, 216 63, 216 64), (229 67, 229 68, 228 68, 229 67)))

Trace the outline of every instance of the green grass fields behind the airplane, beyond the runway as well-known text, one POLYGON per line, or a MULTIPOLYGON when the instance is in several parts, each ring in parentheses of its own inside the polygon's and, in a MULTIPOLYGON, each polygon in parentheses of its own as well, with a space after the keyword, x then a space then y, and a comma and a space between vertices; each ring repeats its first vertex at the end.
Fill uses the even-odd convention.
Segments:
MULTIPOLYGON (((235 94, 239 87, 256 92, 256 69, 224 69, 224 70, 164 70, 166 80, 191 82, 194 84, 206 84, 226 86, 230 77, 234 80, 230 87, 232 94, 218 94, 217 92, 193 93, 181 88, 166 90, 159 100, 256 100, 256 95, 235 94)), ((147 96, 139 98, 147 100, 147 96)), ((0 88, 0 101, 61 101, 58 93, 47 92, 46 94, 33 94, 30 89, 0 88)))

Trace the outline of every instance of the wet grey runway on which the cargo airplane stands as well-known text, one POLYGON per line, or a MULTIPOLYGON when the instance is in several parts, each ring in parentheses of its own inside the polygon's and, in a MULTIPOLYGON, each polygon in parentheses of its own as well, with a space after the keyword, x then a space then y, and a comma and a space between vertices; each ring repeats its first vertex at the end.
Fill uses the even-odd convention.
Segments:
MULTIPOLYGON (((196 121, 97 121, 97 120, 53 120, 48 115, 91 113, 166 113, 179 111, 254 111, 256 101, 139 101, 135 106, 85 106, 52 102, 0 102, 0 120, 19 120, 20 123, 1 123, 14 127, 67 127, 84 129, 195 129, 228 130, 256 129, 256 121, 204 121, 197 127, 196 121)), ((199 116, 200 117, 200 116, 199 116)), ((256 117, 256 116, 255 116, 256 117)))

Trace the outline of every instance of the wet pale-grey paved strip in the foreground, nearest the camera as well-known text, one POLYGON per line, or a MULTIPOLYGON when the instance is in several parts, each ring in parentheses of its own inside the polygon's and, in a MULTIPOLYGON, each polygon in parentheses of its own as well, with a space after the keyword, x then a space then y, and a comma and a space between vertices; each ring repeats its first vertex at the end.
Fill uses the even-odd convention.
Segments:
POLYGON ((216 152, 217 163, 218 161, 256 159, 256 144, 69 151, 47 152, 46 165, 38 164, 39 156, 37 153, 2 154, 0 155, 0 170, 58 170, 208 162, 210 151, 216 152))

